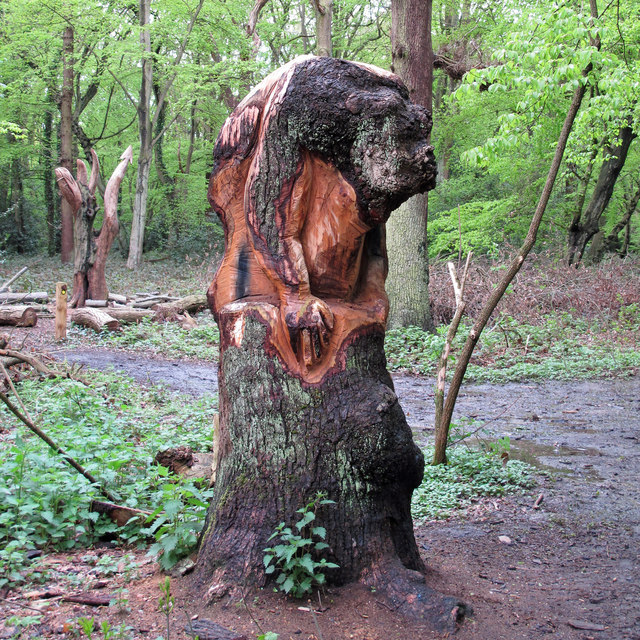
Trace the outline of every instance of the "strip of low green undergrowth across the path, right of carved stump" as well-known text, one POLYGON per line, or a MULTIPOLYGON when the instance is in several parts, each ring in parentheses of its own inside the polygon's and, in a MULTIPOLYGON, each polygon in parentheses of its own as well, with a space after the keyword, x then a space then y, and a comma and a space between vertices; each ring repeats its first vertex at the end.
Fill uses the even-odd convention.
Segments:
MULTIPOLYGON (((454 341, 448 374, 471 324, 454 341)), ((430 334, 417 327, 391 329, 385 349, 389 368, 433 376, 447 328, 430 334)), ((539 325, 500 316, 485 329, 467 369, 466 381, 577 380, 628 375, 640 367, 640 308, 623 307, 614 320, 586 321, 562 312, 539 325)))

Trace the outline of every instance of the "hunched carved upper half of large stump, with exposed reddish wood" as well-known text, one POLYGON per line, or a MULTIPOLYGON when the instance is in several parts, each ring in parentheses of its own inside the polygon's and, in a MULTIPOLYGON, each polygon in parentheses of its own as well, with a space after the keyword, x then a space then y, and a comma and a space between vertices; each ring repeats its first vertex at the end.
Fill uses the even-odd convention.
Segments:
POLYGON ((276 304, 272 342, 318 382, 354 331, 384 327, 384 225, 435 185, 430 114, 381 69, 302 57, 266 78, 222 128, 209 199, 227 247, 214 313, 276 304), (291 130, 295 127, 295 130, 291 130))

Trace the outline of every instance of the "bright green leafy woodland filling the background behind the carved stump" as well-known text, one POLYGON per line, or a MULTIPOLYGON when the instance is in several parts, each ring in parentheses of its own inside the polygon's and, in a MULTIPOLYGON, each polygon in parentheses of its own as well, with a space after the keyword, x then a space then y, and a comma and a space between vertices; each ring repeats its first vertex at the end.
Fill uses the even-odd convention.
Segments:
MULTIPOLYGON (((433 3, 431 258, 521 243, 589 63, 536 250, 574 263, 638 251, 640 7, 601 3, 594 23, 583 4, 433 3)), ((137 171, 122 183, 116 243, 129 266, 142 249, 219 246, 206 200, 217 132, 268 72, 323 46, 323 9, 334 56, 391 66, 388 0, 2 3, 0 251, 59 252, 53 168, 93 148, 107 177, 129 144, 137 171)))

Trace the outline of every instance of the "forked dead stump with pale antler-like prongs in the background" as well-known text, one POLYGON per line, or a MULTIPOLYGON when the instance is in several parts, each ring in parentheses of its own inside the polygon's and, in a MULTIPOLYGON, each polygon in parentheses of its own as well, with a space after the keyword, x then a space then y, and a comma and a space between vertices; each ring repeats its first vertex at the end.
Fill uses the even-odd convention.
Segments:
POLYGON ((104 192, 104 216, 100 231, 93 231, 98 213, 96 185, 100 165, 95 151, 91 150, 93 166, 91 179, 87 181, 87 166, 78 160, 77 180, 63 168, 56 169, 56 180, 62 197, 73 210, 73 296, 70 307, 82 307, 84 301, 106 300, 109 296, 105 267, 113 241, 118 235, 118 191, 127 166, 132 161, 131 147, 120 156, 120 163, 113 172, 104 192))

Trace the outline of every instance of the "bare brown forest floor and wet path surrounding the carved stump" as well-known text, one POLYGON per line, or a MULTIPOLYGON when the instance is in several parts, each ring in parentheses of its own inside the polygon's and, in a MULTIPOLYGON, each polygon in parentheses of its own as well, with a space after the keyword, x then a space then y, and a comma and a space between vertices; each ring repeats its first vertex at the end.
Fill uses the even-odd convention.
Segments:
MULTIPOLYGON (((216 365, 166 359, 75 340, 53 342, 53 321, 17 330, 24 347, 90 369, 113 367, 142 385, 161 384, 194 396, 216 391, 216 365), (28 335, 27 335, 28 334, 28 335)), ((419 444, 432 436, 433 381, 394 374, 394 384, 419 444)), ((462 598, 473 615, 460 640, 558 638, 640 640, 640 376, 581 381, 466 384, 455 420, 480 421, 476 439, 509 437, 509 455, 538 469, 523 494, 482 498, 446 520, 417 523, 429 568, 427 583, 462 598)), ((105 544, 49 553, 51 576, 75 576, 112 594, 113 606, 62 601, 69 580, 0 593, 0 621, 38 614, 23 637, 79 637, 79 617, 125 625, 122 638, 191 637, 189 620, 212 620, 247 638, 272 631, 279 639, 405 640, 440 638, 391 611, 359 586, 328 589, 322 603, 287 600, 270 590, 244 601, 206 606, 189 591, 189 576, 172 577, 175 608, 158 612, 165 575, 145 551, 105 544), (96 573, 96 559, 103 570, 96 573), (31 609, 35 609, 32 611, 31 609), (258 626, 259 625, 259 626, 258 626), (261 629, 262 631, 260 631, 261 629)), ((107 601, 109 598, 107 598, 107 601)), ((123 627, 124 629, 124 627, 123 627)), ((86 634, 85 634, 86 635, 86 634)), ((0 622, 0 638, 12 637, 0 622)), ((14 636, 15 637, 15 636, 14 636)), ((94 632, 94 637, 108 637, 94 632)), ((240 635, 238 635, 240 637, 240 635)))

